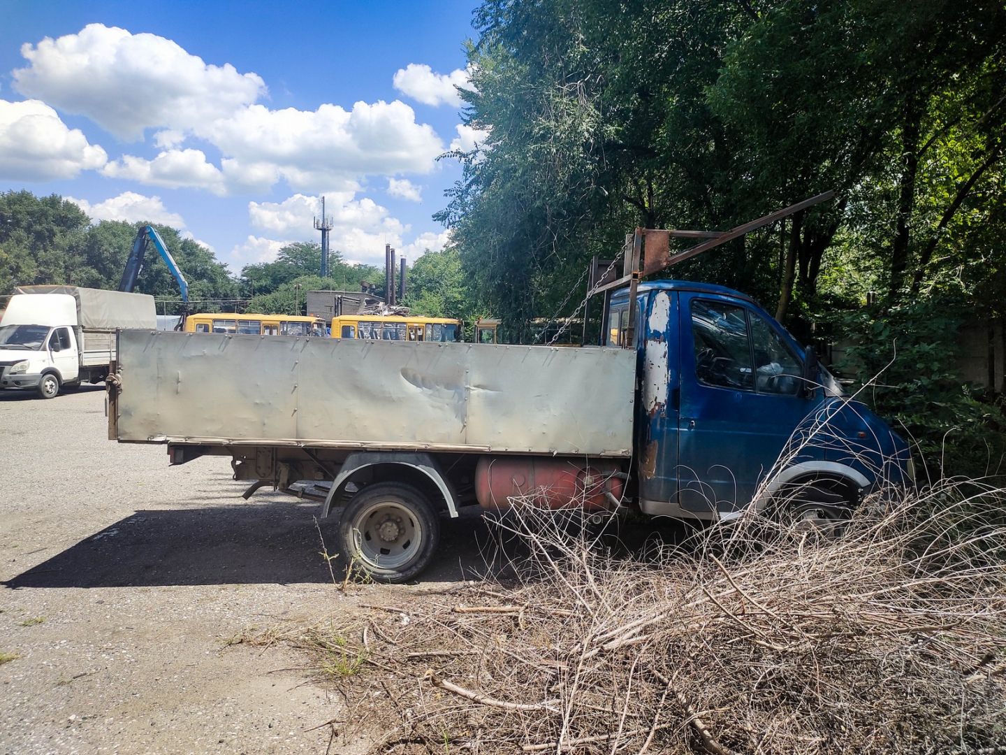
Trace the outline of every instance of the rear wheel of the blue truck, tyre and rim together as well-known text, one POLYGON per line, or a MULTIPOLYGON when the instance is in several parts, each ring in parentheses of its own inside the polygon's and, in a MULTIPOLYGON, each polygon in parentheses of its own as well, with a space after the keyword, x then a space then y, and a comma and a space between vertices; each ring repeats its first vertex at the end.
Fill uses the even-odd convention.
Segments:
POLYGON ((356 493, 339 521, 339 547, 348 568, 375 582, 406 582, 433 560, 440 519, 410 485, 381 482, 356 493))

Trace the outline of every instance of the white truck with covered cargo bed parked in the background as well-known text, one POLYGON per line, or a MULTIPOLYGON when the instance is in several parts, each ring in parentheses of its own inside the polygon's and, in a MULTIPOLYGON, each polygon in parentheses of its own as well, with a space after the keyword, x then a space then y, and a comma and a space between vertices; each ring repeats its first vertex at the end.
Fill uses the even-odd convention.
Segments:
POLYGON ((75 286, 26 286, 0 320, 0 389, 52 399, 64 388, 105 380, 118 328, 157 326, 145 294, 75 286))

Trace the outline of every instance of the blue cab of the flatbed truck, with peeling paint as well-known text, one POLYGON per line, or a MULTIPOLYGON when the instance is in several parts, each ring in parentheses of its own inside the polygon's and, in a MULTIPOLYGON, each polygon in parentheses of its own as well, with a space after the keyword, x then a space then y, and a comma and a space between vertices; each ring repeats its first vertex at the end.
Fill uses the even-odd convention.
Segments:
POLYGON ((847 511, 880 481, 905 482, 907 446, 843 397, 813 350, 754 300, 709 284, 613 295, 605 345, 635 330, 638 502, 651 515, 728 518, 803 487, 814 515, 847 511), (833 504, 833 505, 831 505, 833 504))

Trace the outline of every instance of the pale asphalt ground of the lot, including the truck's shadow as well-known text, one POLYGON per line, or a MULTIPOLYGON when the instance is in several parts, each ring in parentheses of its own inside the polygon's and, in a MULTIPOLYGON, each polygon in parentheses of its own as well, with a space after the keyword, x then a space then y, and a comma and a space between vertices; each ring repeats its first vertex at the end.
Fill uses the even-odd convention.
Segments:
POLYGON ((102 387, 0 392, 2 753, 323 753, 352 713, 304 656, 228 639, 485 571, 485 525, 445 520, 422 584, 343 593, 317 503, 107 432, 102 387))

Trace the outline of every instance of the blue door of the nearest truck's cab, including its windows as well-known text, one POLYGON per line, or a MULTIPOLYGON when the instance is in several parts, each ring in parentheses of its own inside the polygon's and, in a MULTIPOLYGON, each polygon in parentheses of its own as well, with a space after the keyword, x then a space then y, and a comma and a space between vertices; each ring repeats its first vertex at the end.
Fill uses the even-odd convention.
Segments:
POLYGON ((777 325, 744 302, 681 293, 679 503, 746 505, 813 402, 777 325))

